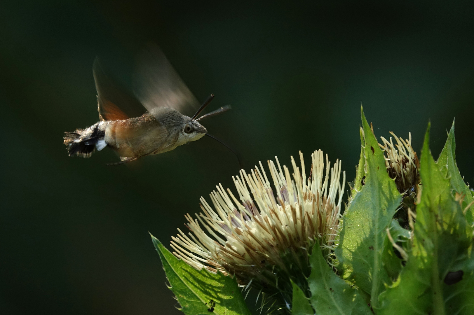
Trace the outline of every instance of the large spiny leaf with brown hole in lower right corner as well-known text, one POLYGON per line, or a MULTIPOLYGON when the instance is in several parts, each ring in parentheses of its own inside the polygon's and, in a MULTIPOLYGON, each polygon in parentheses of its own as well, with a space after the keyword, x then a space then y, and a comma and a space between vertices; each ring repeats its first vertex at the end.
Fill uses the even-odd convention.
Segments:
POLYGON ((422 193, 412 250, 397 282, 380 295, 378 315, 474 314, 472 228, 428 142, 429 125, 420 159, 422 193), (465 278, 446 284, 448 273, 459 270, 465 278))

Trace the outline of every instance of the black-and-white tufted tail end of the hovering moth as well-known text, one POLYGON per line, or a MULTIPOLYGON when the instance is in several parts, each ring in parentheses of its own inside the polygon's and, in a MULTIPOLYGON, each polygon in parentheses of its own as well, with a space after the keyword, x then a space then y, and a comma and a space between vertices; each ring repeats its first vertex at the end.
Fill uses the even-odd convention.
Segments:
POLYGON ((104 139, 104 130, 100 123, 94 124, 86 129, 76 129, 74 132, 64 133, 64 144, 69 156, 77 155, 84 158, 90 157, 95 150, 99 140, 104 139))

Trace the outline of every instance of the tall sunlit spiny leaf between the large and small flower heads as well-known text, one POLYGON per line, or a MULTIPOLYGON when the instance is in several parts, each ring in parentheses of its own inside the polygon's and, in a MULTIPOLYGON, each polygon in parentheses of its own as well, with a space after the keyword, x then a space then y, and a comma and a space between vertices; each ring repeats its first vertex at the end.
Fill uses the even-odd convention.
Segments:
POLYGON ((371 304, 376 306, 384 283, 391 282, 383 267, 384 242, 386 228, 391 225, 400 205, 401 194, 388 176, 383 152, 362 108, 361 116, 365 185, 353 197, 344 214, 336 255, 342 263, 344 278, 370 294, 371 304))

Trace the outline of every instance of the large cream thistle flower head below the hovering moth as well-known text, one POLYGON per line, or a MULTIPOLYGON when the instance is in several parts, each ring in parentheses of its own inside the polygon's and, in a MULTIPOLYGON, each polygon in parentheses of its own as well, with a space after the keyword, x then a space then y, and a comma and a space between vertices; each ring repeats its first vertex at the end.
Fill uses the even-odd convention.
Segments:
POLYGON ((324 174, 321 150, 311 154, 308 178, 301 152, 301 171, 291 157, 293 180, 275 159, 276 165, 268 161, 268 167, 276 196, 261 162, 250 174, 241 170, 240 176, 232 177, 237 198, 220 184, 210 194, 214 207, 201 197, 202 213, 195 219, 186 215, 191 232, 178 229, 171 247, 195 269, 235 275, 241 286, 273 296, 289 309, 290 279, 310 295, 305 277, 310 274, 313 245, 318 242, 328 262, 332 260, 346 173, 341 183, 341 162, 330 168, 326 155, 324 174))

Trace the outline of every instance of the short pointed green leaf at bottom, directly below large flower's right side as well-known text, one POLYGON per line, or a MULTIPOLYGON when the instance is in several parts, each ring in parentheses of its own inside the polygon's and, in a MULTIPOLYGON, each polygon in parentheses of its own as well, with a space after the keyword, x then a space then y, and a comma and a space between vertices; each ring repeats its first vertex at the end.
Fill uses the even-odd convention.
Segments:
POLYGON ((371 315, 369 306, 356 289, 339 278, 324 259, 316 242, 310 256, 311 274, 308 284, 311 305, 316 314, 324 315, 371 315))

